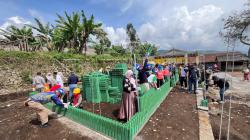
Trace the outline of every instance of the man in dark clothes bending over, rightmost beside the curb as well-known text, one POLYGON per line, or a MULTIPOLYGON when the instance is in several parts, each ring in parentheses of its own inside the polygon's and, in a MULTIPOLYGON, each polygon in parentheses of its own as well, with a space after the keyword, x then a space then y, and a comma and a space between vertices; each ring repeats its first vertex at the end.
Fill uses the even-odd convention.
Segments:
POLYGON ((213 76, 212 79, 214 81, 214 85, 218 86, 220 89, 219 90, 220 103, 223 103, 224 102, 224 93, 226 90, 229 89, 229 83, 224 78, 219 78, 217 76, 213 76))

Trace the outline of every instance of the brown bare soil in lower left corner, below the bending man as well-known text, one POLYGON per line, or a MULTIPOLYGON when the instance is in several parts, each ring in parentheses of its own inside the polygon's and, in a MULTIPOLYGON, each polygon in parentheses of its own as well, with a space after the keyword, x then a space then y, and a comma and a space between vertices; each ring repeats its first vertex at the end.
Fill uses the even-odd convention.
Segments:
POLYGON ((1 140, 89 140, 62 125, 49 120, 50 126, 39 128, 35 111, 24 107, 25 98, 0 103, 1 140))

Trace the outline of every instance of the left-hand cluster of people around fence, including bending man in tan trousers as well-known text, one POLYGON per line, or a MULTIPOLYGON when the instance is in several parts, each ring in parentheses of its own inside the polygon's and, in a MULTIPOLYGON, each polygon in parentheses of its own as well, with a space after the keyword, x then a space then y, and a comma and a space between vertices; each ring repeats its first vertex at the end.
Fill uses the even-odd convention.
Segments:
POLYGON ((79 79, 74 72, 71 72, 66 85, 61 72, 54 72, 54 75, 48 73, 46 78, 41 72, 37 73, 33 78, 33 89, 38 93, 25 101, 25 106, 37 110, 38 120, 41 121, 40 127, 48 126, 49 112, 43 104, 53 102, 61 108, 68 108, 69 104, 72 107, 80 107, 82 95, 80 88, 77 87, 78 82, 79 79))

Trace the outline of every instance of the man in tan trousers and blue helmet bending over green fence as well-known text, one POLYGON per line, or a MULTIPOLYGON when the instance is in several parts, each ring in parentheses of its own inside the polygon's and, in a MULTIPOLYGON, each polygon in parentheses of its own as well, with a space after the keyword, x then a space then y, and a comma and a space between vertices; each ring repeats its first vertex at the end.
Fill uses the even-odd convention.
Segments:
POLYGON ((57 106, 68 108, 68 104, 62 103, 59 99, 59 97, 63 94, 63 89, 58 89, 55 92, 41 92, 31 96, 27 101, 25 101, 25 106, 37 110, 37 117, 38 120, 41 121, 41 128, 48 126, 49 117, 49 112, 47 108, 43 106, 43 104, 53 101, 57 106))

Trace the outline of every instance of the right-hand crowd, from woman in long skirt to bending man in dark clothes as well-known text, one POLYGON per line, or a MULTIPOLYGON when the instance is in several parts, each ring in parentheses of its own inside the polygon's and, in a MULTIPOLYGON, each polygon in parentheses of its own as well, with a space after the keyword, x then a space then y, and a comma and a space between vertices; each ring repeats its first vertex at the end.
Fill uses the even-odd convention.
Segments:
POLYGON ((213 72, 218 72, 218 70, 214 71, 214 68, 205 67, 204 65, 181 64, 177 66, 174 63, 156 64, 152 67, 146 59, 144 65, 137 68, 138 81, 136 81, 137 78, 132 70, 128 70, 125 74, 118 118, 128 121, 138 111, 139 84, 144 85, 146 91, 150 88, 159 90, 164 82, 176 78, 176 69, 179 72, 179 82, 182 89, 187 89, 190 94, 196 94, 198 84, 203 85, 205 91, 208 91, 209 85, 215 85, 219 87, 220 102, 224 101, 224 92, 229 89, 229 82, 225 78, 213 75, 213 72))

